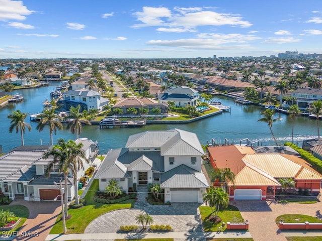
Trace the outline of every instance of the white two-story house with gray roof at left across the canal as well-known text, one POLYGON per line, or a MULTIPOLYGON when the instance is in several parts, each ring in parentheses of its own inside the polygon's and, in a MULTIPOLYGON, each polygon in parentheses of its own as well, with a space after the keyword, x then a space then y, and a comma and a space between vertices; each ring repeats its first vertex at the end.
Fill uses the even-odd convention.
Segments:
POLYGON ((64 92, 63 97, 57 101, 57 105, 62 105, 66 110, 69 110, 71 106, 77 107, 80 105, 80 111, 84 109, 102 111, 103 107, 109 104, 109 101, 109 99, 101 97, 101 94, 97 91, 78 89, 64 92))

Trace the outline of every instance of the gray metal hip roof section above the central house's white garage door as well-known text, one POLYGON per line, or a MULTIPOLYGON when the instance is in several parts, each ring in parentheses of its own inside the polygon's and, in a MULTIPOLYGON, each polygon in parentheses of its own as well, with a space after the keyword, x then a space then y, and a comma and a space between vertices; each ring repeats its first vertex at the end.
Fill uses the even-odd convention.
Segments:
POLYGON ((161 173, 164 181, 161 188, 207 188, 209 184, 205 175, 184 164, 166 172, 161 173))

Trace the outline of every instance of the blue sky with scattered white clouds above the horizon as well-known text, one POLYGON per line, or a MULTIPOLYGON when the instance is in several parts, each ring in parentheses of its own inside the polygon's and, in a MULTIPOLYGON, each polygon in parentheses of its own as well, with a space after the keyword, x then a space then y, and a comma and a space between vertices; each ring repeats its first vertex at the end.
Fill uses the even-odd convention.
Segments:
POLYGON ((0 0, 0 58, 322 53, 320 0, 0 0))

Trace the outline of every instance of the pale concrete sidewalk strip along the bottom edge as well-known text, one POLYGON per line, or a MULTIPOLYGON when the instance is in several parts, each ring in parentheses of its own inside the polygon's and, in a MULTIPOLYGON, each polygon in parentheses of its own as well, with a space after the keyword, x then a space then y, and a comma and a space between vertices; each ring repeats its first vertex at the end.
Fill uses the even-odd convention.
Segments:
POLYGON ((206 238, 252 237, 250 232, 129 232, 129 233, 73 233, 49 234, 46 240, 106 240, 115 238, 175 238, 183 240, 206 240, 206 238))

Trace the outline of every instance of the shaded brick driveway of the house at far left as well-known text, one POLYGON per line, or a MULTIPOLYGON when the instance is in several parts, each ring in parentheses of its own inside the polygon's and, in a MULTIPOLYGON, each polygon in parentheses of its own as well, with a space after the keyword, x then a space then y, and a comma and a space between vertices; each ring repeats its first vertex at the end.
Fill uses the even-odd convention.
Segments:
POLYGON ((19 230, 20 236, 13 239, 19 241, 45 240, 58 214, 61 212, 60 202, 34 202, 18 199, 14 200, 11 205, 24 205, 29 209, 29 217, 19 230), (30 235, 36 232, 38 236, 30 235))

